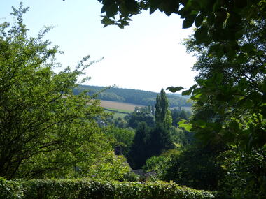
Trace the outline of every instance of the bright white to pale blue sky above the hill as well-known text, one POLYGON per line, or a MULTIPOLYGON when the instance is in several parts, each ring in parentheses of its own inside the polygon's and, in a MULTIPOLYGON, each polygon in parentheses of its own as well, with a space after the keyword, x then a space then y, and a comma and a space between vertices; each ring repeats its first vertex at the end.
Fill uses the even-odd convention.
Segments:
MULTIPOLYGON (((189 88, 197 73, 196 59, 181 44, 193 29, 182 29, 179 15, 167 17, 156 11, 132 17, 130 26, 120 29, 101 24, 102 4, 97 0, 20 0, 29 6, 24 20, 30 36, 45 26, 54 26, 45 39, 59 45, 57 56, 63 68, 90 55, 102 61, 86 69, 91 79, 84 84, 160 92, 170 86, 189 88)), ((0 23, 13 22, 11 6, 18 0, 0 0, 0 23)), ((63 69, 62 68, 62 69, 63 69)))

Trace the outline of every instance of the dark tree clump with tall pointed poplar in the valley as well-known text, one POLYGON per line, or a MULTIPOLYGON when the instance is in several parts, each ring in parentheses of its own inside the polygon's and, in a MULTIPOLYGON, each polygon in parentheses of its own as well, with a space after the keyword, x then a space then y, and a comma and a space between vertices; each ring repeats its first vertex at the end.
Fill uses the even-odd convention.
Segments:
POLYGON ((191 140, 181 128, 172 126, 172 114, 163 89, 156 98, 155 124, 151 123, 151 118, 153 118, 151 112, 139 111, 135 115, 139 117, 133 115, 134 117, 129 120, 129 125, 135 124, 132 127, 137 126, 137 129, 130 153, 127 155, 127 159, 134 169, 141 168, 148 158, 160 156, 165 150, 187 145, 191 140), (149 117, 144 117, 144 115, 149 115, 149 117))

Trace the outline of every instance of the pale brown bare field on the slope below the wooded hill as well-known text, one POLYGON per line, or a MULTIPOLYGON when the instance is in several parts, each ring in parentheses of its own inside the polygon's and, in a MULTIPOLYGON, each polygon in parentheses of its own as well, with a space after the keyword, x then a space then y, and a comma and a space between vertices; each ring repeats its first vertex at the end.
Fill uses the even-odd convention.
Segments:
POLYGON ((111 110, 117 110, 119 112, 133 112, 136 106, 143 107, 143 105, 137 105, 132 103, 104 101, 104 100, 101 100, 101 106, 104 108, 109 108, 111 110))

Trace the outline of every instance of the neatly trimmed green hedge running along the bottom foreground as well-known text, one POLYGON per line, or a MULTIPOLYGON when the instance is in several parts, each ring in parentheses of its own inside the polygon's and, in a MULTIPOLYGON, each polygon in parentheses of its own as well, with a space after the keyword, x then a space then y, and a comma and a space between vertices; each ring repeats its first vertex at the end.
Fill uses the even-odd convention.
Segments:
POLYGON ((215 198, 210 191, 167 182, 106 182, 91 179, 0 180, 0 198, 215 198))

